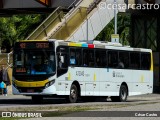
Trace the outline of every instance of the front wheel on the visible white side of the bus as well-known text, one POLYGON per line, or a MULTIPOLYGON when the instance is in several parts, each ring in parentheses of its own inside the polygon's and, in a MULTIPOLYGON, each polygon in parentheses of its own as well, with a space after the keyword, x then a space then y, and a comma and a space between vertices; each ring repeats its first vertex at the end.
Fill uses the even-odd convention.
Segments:
POLYGON ((77 86, 72 84, 71 89, 70 89, 69 102, 70 103, 76 103, 77 99, 78 99, 77 86))

